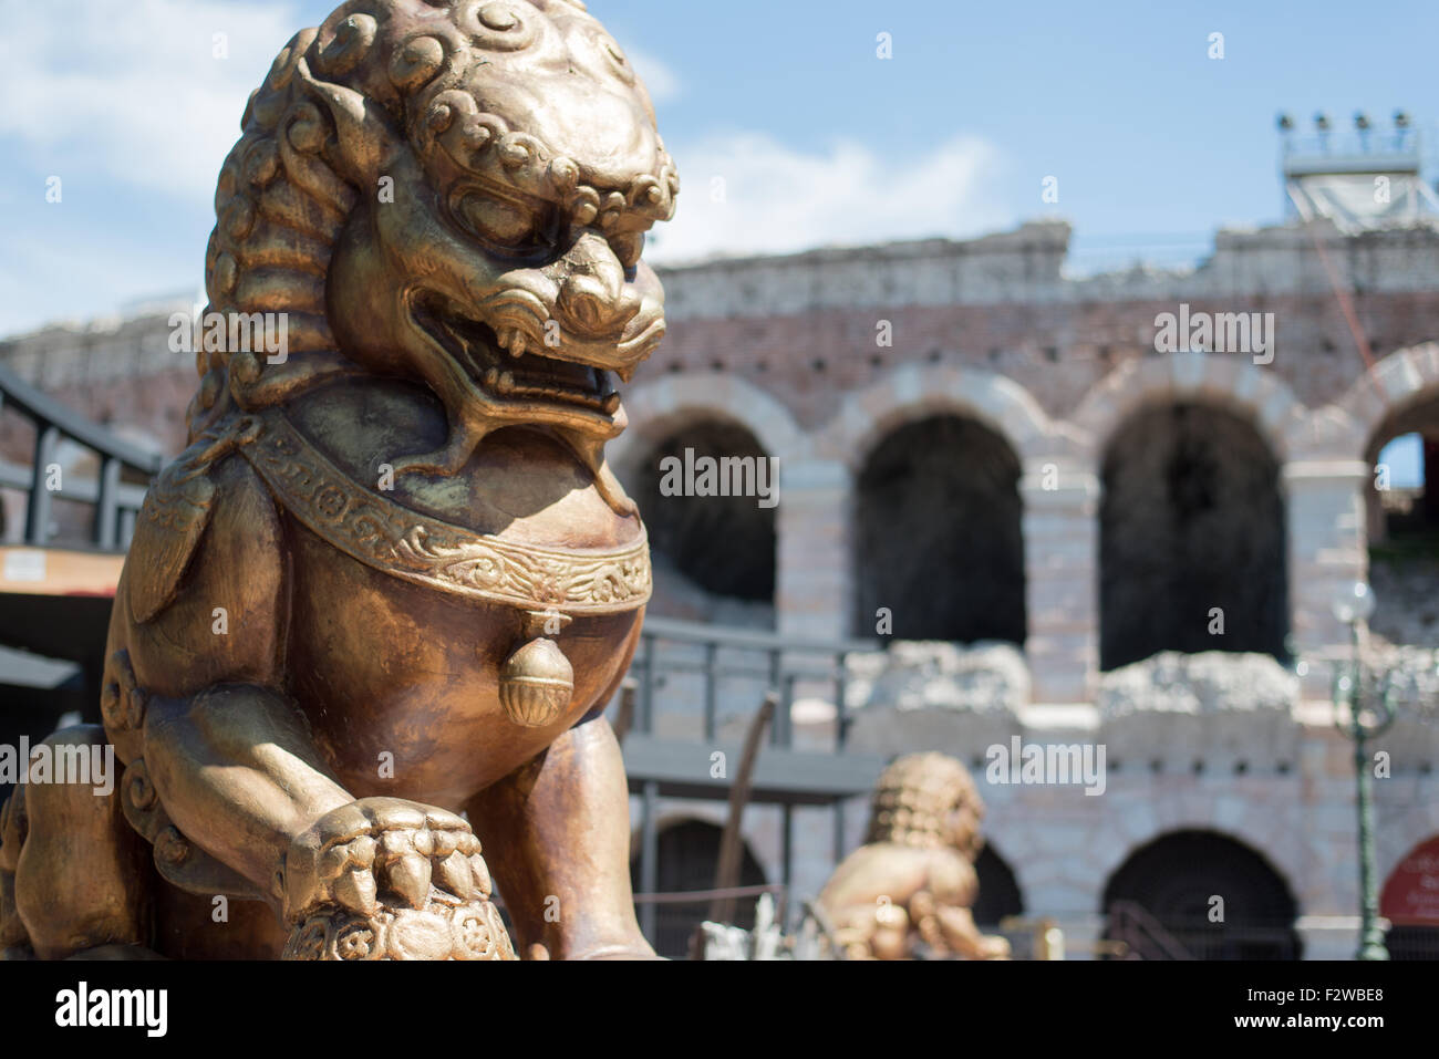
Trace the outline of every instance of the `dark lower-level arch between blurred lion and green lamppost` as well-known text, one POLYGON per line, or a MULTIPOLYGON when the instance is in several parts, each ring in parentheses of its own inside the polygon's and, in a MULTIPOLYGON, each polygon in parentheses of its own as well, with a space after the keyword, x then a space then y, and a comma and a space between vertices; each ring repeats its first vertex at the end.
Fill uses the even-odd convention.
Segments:
POLYGON ((1104 888, 1105 937, 1147 960, 1297 960, 1298 905, 1268 860, 1215 832, 1164 835, 1104 888))

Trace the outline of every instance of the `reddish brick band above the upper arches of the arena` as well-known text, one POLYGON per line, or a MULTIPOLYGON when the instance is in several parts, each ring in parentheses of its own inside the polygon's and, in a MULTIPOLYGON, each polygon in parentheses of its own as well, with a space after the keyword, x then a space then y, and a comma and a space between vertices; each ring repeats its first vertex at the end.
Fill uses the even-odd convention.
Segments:
MULTIPOLYGON (((1354 299, 1374 360, 1439 335, 1436 289, 1367 294, 1354 299)), ((1013 378, 1043 410, 1068 419, 1107 374, 1158 355, 1154 319, 1176 312, 1274 312, 1276 348, 1268 365, 1307 406, 1337 401, 1366 364, 1331 294, 1249 298, 1180 296, 1039 305, 901 305, 816 309, 794 317, 688 318, 636 376, 722 373, 778 397, 800 426, 830 419, 846 391, 881 381, 905 364, 953 364, 1013 378), (894 347, 876 345, 888 319, 894 347)), ((1242 357, 1242 354, 1226 354, 1242 357)))

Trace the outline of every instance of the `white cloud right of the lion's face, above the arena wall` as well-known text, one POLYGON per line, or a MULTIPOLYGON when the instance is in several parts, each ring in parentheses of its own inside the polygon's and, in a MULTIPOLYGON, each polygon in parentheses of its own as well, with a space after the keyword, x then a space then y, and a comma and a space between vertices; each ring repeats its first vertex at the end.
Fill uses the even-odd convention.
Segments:
POLYGON ((881 155, 852 141, 803 153, 745 132, 673 154, 684 190, 646 252, 658 262, 966 237, 1013 222, 999 151, 971 137, 881 155))

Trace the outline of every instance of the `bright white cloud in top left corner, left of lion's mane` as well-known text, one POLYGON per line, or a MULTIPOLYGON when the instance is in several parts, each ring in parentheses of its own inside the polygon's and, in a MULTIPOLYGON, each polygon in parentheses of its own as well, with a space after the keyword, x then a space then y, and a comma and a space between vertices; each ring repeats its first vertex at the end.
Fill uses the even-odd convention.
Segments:
POLYGON ((46 173, 82 171, 206 200, 240 114, 302 24, 291 3, 86 0, 9 4, 0 135, 46 173), (227 58, 216 58, 223 33, 227 58))

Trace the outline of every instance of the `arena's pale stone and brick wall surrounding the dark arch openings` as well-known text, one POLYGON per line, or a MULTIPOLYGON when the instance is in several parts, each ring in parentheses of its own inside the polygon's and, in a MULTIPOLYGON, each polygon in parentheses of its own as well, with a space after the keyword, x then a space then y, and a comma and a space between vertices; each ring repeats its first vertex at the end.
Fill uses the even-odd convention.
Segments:
MULTIPOLYGON (((907 424, 935 416, 977 422, 1017 463, 1017 512, 1006 518, 1017 518, 1022 545, 1022 650, 986 645, 989 660, 976 668, 896 649, 902 663, 930 666, 925 692, 911 702, 914 681, 894 672, 858 682, 871 695, 855 745, 941 750, 979 758, 983 774, 986 748, 1014 735, 1104 744, 1101 797, 981 784, 987 832, 1016 873, 1026 911, 1061 917, 1075 941, 1094 932, 1105 882, 1125 859, 1181 829, 1217 832, 1259 852, 1302 915, 1353 912, 1354 763, 1333 727, 1325 665, 1348 630, 1331 600, 1368 573, 1366 491, 1377 439, 1439 397, 1439 232, 1220 232, 1215 255, 1196 271, 1086 279, 1066 276, 1068 239, 1066 226, 1040 223, 964 243, 665 271, 671 335, 626 390, 632 427, 612 445, 612 462, 642 494, 658 445, 682 440, 694 424, 724 423, 778 458, 781 491, 771 600, 707 599, 684 570, 663 571, 662 588, 673 613, 696 619, 740 616, 763 626, 773 616, 791 636, 875 636, 855 629, 861 600, 865 610, 871 603, 855 573, 865 561, 856 534, 865 468, 907 424), (1353 302, 1373 370, 1356 348, 1315 235, 1353 302), (1156 317, 1180 304, 1274 312, 1274 361, 1156 353, 1156 317), (891 344, 876 341, 886 334, 891 344), (1278 468, 1292 669, 1206 653, 1101 672, 1105 460, 1135 416, 1174 404, 1236 417, 1278 468), (950 678, 960 689, 945 698, 950 678), (1266 688, 1278 691, 1259 694, 1266 688)), ((183 446, 194 371, 167 348, 168 311, 0 342, 0 363, 82 414, 173 453, 183 446)), ((29 459, 24 436, 3 422, 0 456, 29 459)), ((1131 506, 1144 502, 1141 491, 1131 506)), ((17 512, 7 514, 16 525, 17 512)), ((698 532, 717 537, 717 550, 727 545, 722 530, 698 532)), ((1435 622, 1420 613, 1432 609, 1432 580, 1376 568, 1376 633, 1433 646, 1435 622)), ((1415 672, 1432 665, 1406 659, 1415 672)), ((672 691, 695 698, 689 688, 672 691)), ((758 691, 737 691, 735 702, 753 709, 758 691)), ((744 711, 722 709, 721 727, 732 734, 744 711)), ((692 715, 672 719, 676 732, 692 734, 692 715)), ((663 730, 666 718, 658 721, 663 730)), ((1376 784, 1380 878, 1439 832, 1433 732, 1410 717, 1386 744, 1393 771, 1376 784)), ((720 820, 722 806, 675 801, 662 814, 720 820)), ((862 801, 846 807, 846 847, 858 843, 863 816, 862 801)), ((771 881, 780 876, 780 824, 774 809, 745 820, 771 881)), ((813 894, 832 863, 833 822, 826 810, 802 809, 794 835, 796 894, 813 894)), ((1353 951, 1344 931, 1301 932, 1308 955, 1353 951)))

